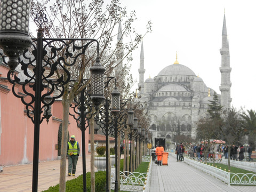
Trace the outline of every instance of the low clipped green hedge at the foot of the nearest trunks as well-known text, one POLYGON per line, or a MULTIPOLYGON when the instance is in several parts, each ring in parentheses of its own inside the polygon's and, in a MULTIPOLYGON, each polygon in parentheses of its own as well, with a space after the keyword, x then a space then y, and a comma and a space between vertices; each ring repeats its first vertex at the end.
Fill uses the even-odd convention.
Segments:
MULTIPOLYGON (((42 192, 59 192, 60 185, 49 187, 42 192)), ((86 189, 91 191, 91 173, 86 173, 86 189)), ((106 171, 95 172, 95 192, 106 190, 106 171)), ((66 192, 83 192, 83 175, 66 182, 66 192)))

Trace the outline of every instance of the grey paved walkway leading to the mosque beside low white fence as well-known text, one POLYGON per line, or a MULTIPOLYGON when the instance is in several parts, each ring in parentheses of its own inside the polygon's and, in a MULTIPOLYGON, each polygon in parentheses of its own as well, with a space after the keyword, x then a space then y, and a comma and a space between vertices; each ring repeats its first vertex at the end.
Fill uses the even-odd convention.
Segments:
POLYGON ((171 155, 168 166, 152 167, 150 192, 220 192, 256 191, 255 186, 228 186, 212 175, 204 173, 185 162, 177 162, 171 155))

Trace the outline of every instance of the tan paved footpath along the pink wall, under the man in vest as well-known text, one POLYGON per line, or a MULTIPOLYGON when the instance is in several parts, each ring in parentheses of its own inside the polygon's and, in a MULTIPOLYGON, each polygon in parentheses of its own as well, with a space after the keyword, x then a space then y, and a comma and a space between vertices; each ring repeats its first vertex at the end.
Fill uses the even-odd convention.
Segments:
MULTIPOLYGON (((86 156, 86 172, 90 171, 90 158, 86 156)), ((68 160, 67 160, 68 169, 68 160)), ((31 192, 32 189, 32 171, 33 164, 15 165, 4 167, 0 173, 0 191, 1 192, 31 192)), ((83 173, 82 157, 79 157, 76 167, 76 176, 69 177, 66 174, 66 180, 74 179, 83 173)), ((55 186, 59 183, 60 160, 40 162, 38 166, 38 192, 55 186)), ((74 191, 75 192, 75 191, 74 191)))

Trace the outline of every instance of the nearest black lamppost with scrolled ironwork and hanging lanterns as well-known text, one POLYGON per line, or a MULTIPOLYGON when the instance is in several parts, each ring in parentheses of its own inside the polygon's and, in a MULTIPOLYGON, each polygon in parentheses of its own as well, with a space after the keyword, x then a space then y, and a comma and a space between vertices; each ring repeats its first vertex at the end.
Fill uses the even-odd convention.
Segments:
POLYGON ((1 53, 0 55, 2 55, 3 63, 10 67, 7 79, 13 84, 12 92, 26 106, 27 116, 34 123, 32 191, 35 192, 38 187, 40 124, 43 119, 50 118, 50 106, 55 99, 59 99, 63 95, 64 85, 70 80, 70 73, 64 66, 75 65, 78 57, 85 54, 88 46, 93 42, 97 43, 96 66, 91 68, 93 90, 91 99, 96 108, 100 105, 100 101, 105 99, 102 94, 105 69, 99 63, 99 43, 96 39, 44 38, 42 25, 47 22, 47 18, 43 11, 37 13, 34 19, 39 26, 37 38, 31 39, 28 34, 29 11, 29 0, 1 1, 0 48, 3 49, 5 55, 1 53), (86 43, 77 45, 76 42, 86 43), (59 55, 60 52, 63 55, 59 55), (75 52, 77 54, 74 54, 75 52), (21 55, 23 59, 20 58, 21 55), (19 63, 23 75, 26 76, 25 82, 21 82, 21 79, 15 74, 15 68, 19 63), (57 77, 55 73, 59 69, 61 69, 61 74, 57 77), (17 85, 22 86, 23 94, 19 94, 17 89, 14 89, 17 85), (47 93, 44 93, 45 89, 47 89, 47 93), (55 94, 50 101, 49 96, 53 92, 55 94), (41 117, 44 108, 46 109, 41 117))

